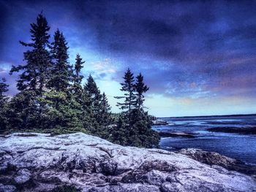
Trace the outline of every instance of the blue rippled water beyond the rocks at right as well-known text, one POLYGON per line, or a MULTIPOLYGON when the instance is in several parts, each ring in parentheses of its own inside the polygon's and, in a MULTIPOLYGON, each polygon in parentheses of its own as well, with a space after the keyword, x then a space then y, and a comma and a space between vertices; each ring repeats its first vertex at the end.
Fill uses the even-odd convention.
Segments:
POLYGON ((160 146, 167 150, 199 148, 215 151, 247 164, 256 164, 256 135, 227 134, 207 131, 212 127, 256 126, 256 116, 211 117, 211 118, 162 118, 166 126, 154 126, 157 131, 186 132, 196 134, 195 138, 162 138, 160 146))

